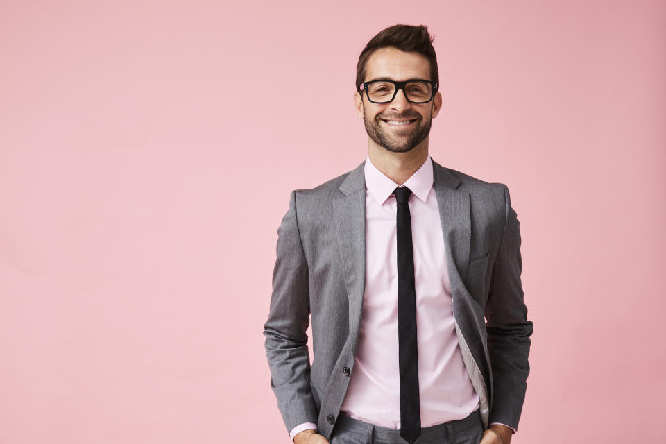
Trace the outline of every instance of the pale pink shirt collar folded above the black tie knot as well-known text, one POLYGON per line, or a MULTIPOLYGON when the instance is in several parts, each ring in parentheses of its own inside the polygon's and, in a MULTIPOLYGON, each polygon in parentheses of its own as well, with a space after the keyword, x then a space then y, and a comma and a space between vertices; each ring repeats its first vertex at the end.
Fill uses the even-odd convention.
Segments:
MULTIPOLYGON (((433 182, 433 166, 432 159, 428 155, 427 159, 420 166, 415 173, 411 175, 407 182, 404 182, 404 185, 401 187, 407 187, 411 189, 413 194, 416 194, 420 200, 425 202, 425 199, 430 193, 433 182)), ((379 171, 373 162, 370 162, 370 157, 366 158, 366 164, 364 167, 364 173, 366 178, 366 189, 370 191, 370 194, 373 195, 375 200, 379 205, 383 205, 388 199, 388 196, 391 196, 395 187, 398 187, 398 184, 393 182, 388 178, 382 171, 379 171)))

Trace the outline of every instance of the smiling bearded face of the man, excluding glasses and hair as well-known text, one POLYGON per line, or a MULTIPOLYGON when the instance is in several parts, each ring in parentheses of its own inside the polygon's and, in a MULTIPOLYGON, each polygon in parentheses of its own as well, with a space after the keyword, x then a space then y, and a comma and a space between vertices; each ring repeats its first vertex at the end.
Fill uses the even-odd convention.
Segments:
MULTIPOLYGON (((366 63, 364 81, 388 79, 410 80, 430 78, 430 64, 419 53, 400 51, 388 47, 377 49, 366 63)), ((368 137, 395 153, 406 153, 420 144, 430 132, 432 118, 441 108, 441 94, 437 92, 428 103, 410 103, 404 92, 398 90, 389 103, 372 103, 366 92, 355 94, 359 117, 363 117, 368 137)))

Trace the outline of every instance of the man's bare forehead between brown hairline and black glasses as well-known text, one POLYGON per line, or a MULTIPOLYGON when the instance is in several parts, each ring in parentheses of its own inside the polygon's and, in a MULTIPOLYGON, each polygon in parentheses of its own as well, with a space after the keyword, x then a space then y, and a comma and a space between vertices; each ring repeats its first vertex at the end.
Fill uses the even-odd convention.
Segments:
POLYGON ((430 62, 419 53, 405 52, 397 48, 380 48, 373 52, 366 62, 365 81, 375 78, 407 80, 409 78, 430 78, 430 62))

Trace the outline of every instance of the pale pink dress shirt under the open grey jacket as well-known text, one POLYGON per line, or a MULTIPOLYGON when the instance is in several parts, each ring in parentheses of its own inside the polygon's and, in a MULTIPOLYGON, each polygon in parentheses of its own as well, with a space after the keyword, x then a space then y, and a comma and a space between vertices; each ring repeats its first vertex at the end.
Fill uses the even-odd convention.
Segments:
MULTIPOLYGON (((398 185, 366 159, 366 286, 359 344, 341 411, 375 425, 400 429, 398 373, 398 185)), ((416 280, 416 330, 421 427, 466 418, 479 407, 458 346, 445 244, 430 156, 404 182, 416 280)), ((316 429, 300 424, 289 433, 316 429)))

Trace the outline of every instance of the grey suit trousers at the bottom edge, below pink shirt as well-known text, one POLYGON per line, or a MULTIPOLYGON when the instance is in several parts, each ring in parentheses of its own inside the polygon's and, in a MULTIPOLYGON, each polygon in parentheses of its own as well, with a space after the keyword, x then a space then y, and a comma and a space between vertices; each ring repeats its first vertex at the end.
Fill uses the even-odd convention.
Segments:
MULTIPOLYGON (((484 436, 479 410, 464 419, 424 427, 414 444, 479 444, 484 436)), ((331 434, 331 444, 407 444, 400 429, 370 424, 340 412, 331 434)))

